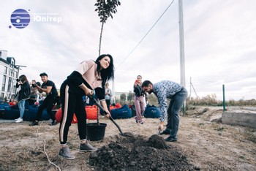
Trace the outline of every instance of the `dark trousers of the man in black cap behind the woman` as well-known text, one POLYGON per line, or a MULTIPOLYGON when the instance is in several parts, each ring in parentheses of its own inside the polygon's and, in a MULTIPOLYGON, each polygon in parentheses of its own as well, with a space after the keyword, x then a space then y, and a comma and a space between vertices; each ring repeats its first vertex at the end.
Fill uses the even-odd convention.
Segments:
POLYGON ((55 105, 54 97, 47 96, 43 101, 42 104, 39 105, 37 110, 37 121, 40 120, 42 116, 42 111, 46 109, 48 115, 50 115, 51 120, 55 121, 55 115, 53 114, 53 106, 55 105))

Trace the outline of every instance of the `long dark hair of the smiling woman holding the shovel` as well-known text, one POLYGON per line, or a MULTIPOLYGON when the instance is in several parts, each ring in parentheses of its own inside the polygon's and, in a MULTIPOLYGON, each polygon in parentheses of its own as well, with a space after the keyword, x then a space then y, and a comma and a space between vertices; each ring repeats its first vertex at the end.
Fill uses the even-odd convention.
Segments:
POLYGON ((113 58, 112 58, 112 56, 110 56, 110 54, 102 54, 101 56, 99 56, 96 59, 96 64, 97 64, 97 72, 100 72, 100 75, 102 77, 102 88, 104 88, 105 87, 105 83, 108 80, 114 80, 114 70, 115 70, 115 67, 114 67, 114 64, 113 64, 113 58), (110 58, 110 64, 109 64, 108 68, 100 70, 99 61, 102 58, 104 58, 105 56, 108 56, 110 58))

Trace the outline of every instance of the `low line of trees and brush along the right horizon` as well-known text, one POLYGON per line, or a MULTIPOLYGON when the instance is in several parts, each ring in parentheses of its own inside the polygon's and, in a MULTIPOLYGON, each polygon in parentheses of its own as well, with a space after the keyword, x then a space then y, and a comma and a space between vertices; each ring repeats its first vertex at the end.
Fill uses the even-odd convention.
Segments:
MULTIPOLYGON (((133 105, 134 104, 134 96, 135 94, 132 91, 129 91, 129 93, 126 94, 121 94, 120 99, 116 100, 116 103, 120 103, 121 105, 128 104, 128 105, 133 105)), ((157 96, 154 94, 149 94, 146 97, 148 103, 150 105, 154 104, 154 106, 158 107, 158 101, 157 101, 157 96)), ((170 100, 167 99, 167 103, 169 104, 170 100)), ((203 97, 196 97, 196 98, 187 98, 186 100, 187 105, 194 105, 194 106, 222 106, 223 101, 222 100, 217 100, 216 94, 208 94, 207 96, 203 97)), ((245 99, 239 99, 239 100, 226 100, 225 101, 226 106, 256 106, 256 99, 250 99, 250 100, 245 100, 245 99)))

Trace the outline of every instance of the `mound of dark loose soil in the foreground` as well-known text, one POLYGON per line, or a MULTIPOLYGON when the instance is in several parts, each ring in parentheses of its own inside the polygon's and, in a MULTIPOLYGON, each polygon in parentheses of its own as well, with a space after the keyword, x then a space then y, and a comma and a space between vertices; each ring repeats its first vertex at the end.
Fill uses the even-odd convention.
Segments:
POLYGON ((156 134, 148 140, 142 136, 121 137, 91 153, 89 164, 96 170, 200 170, 156 134))

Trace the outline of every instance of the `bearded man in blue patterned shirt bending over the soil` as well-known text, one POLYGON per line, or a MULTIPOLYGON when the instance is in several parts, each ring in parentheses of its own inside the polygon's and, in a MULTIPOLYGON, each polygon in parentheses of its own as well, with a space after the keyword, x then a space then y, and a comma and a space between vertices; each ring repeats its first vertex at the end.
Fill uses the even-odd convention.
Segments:
POLYGON ((177 141, 179 113, 187 99, 187 89, 169 80, 162 80, 155 84, 149 80, 145 80, 141 87, 148 94, 154 93, 157 96, 159 109, 162 113, 158 126, 159 130, 162 131, 164 129, 164 121, 167 117, 166 129, 161 134, 170 134, 169 137, 165 138, 166 141, 177 141), (167 98, 170 99, 168 109, 167 98))

